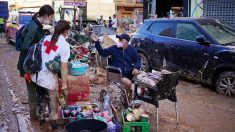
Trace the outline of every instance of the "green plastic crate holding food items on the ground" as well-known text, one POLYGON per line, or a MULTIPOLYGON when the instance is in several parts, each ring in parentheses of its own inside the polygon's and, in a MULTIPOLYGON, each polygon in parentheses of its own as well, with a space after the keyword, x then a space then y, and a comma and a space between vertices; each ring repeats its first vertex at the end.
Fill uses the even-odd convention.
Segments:
POLYGON ((149 132, 149 122, 126 122, 122 112, 122 132, 130 132, 131 127, 141 127, 141 132, 149 132))

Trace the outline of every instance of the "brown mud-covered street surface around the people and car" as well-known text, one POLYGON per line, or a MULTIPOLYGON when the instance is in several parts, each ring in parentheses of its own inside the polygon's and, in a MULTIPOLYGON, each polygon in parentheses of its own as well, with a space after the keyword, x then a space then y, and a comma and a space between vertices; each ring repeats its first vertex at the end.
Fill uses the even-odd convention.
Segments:
MULTIPOLYGON (((0 38, 0 132, 49 131, 29 120, 27 92, 16 68, 19 52, 0 38)), ((103 86, 91 87, 91 101, 98 100, 103 86)), ((235 98, 218 95, 211 89, 186 81, 177 86, 179 124, 176 128, 175 104, 160 101, 160 132, 234 132, 235 98)), ((156 108, 144 104, 150 114, 151 132, 156 131, 156 108)))

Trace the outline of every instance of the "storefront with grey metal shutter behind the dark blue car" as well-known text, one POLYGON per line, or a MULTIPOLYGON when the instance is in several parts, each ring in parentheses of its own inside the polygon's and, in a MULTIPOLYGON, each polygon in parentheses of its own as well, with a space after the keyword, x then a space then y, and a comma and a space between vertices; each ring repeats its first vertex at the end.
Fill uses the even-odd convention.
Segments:
POLYGON ((150 17, 207 17, 235 29, 234 0, 144 0, 144 19, 150 17))

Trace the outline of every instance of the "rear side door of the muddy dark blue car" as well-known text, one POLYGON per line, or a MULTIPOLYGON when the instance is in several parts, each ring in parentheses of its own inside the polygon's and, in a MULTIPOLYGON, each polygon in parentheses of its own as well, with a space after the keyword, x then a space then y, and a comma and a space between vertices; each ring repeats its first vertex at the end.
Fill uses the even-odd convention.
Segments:
POLYGON ((157 21, 146 32, 148 36, 151 36, 147 42, 153 69, 163 69, 164 59, 170 57, 167 49, 173 36, 173 27, 172 21, 157 21))

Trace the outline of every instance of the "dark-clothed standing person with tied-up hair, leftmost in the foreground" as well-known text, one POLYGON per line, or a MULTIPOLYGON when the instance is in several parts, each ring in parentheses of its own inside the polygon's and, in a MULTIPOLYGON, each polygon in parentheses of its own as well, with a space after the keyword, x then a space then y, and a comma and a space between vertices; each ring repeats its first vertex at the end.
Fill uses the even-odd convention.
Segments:
POLYGON ((37 99, 36 99, 36 86, 30 80, 30 76, 25 73, 23 63, 27 56, 28 49, 39 42, 43 36, 43 24, 50 24, 54 16, 54 10, 50 5, 44 5, 35 13, 32 20, 26 25, 23 31, 23 43, 19 55, 17 69, 20 71, 20 76, 26 80, 28 103, 30 111, 30 119, 37 120, 37 99))

